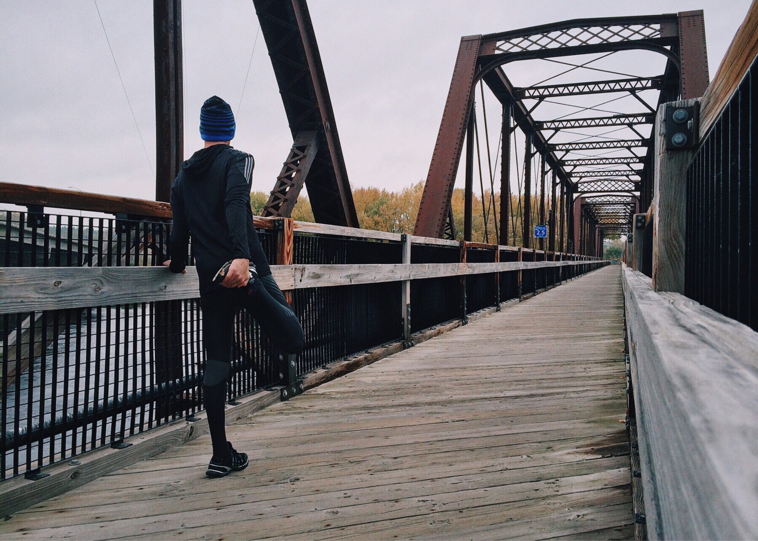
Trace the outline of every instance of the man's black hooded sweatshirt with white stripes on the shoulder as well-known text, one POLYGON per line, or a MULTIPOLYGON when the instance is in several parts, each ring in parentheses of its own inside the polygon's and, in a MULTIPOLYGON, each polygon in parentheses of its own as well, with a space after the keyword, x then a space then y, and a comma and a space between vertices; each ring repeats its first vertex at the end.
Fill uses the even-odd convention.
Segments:
POLYGON ((249 259, 259 276, 271 274, 258 233, 252 225, 252 156, 229 145, 199 150, 182 164, 171 187, 171 271, 187 264, 192 236, 200 293, 216 286, 213 277, 231 259, 249 259))

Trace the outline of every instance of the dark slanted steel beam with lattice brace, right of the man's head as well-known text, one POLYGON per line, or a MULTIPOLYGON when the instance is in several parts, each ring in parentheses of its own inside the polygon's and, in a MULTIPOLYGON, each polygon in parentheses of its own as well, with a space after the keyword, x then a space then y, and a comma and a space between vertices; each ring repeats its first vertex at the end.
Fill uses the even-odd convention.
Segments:
POLYGON ((308 5, 305 0, 253 0, 253 5, 293 136, 283 170, 302 151, 307 132, 318 136, 318 144, 307 147, 304 159, 298 161, 308 164, 308 170, 301 167, 289 179, 280 175, 265 215, 289 217, 305 185, 317 222, 359 227, 308 5))

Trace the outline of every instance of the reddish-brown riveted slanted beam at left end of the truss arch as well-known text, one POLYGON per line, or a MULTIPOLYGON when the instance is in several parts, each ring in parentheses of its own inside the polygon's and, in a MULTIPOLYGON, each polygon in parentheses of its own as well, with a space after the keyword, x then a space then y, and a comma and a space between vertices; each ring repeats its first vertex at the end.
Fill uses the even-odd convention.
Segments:
POLYGON ((481 36, 465 36, 461 39, 440 131, 437 133, 424 193, 418 207, 414 229, 414 234, 418 236, 441 237, 445 230, 465 129, 473 102, 472 83, 480 43, 481 36))

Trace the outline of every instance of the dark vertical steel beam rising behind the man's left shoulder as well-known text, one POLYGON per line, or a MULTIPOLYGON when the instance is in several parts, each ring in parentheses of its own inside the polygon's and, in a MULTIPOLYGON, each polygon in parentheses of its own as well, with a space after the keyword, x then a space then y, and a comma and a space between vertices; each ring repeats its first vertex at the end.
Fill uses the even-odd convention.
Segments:
POLYGON ((155 201, 171 201, 184 161, 182 2, 153 0, 155 46, 155 201))

